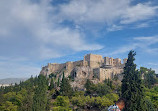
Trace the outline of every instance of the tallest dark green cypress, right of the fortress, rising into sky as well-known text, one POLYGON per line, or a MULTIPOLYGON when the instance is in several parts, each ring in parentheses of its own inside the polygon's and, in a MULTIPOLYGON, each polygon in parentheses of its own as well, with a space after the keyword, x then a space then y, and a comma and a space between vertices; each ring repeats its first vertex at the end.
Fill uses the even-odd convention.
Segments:
POLYGON ((136 53, 130 51, 124 67, 122 80, 122 97, 126 99, 125 111, 147 111, 143 93, 143 86, 139 71, 134 64, 136 53))

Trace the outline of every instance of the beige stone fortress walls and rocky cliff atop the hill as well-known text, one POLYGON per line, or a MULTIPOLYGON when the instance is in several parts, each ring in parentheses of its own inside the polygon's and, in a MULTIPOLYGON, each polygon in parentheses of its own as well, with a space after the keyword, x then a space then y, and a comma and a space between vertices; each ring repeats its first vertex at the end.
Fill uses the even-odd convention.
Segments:
POLYGON ((65 77, 72 78, 71 85, 73 87, 82 88, 87 79, 92 80, 94 83, 103 82, 105 79, 112 79, 123 72, 127 59, 102 57, 101 55, 87 54, 83 60, 75 62, 66 62, 63 64, 48 63, 43 67, 40 74, 45 76, 55 75, 60 80, 62 74, 65 77))

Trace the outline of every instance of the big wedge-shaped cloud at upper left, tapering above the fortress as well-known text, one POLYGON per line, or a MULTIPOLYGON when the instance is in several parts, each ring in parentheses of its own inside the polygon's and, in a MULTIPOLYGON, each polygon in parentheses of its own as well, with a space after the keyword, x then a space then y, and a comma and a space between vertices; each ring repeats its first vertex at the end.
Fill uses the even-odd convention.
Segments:
MULTIPOLYGON (((13 45, 7 46, 16 50, 15 55, 10 53, 12 56, 19 56, 25 50, 21 56, 49 59, 67 52, 102 48, 95 41, 89 44, 84 33, 61 26, 49 1, 2 0, 0 4, 0 38, 13 45)), ((4 52, 9 53, 8 49, 4 52)))

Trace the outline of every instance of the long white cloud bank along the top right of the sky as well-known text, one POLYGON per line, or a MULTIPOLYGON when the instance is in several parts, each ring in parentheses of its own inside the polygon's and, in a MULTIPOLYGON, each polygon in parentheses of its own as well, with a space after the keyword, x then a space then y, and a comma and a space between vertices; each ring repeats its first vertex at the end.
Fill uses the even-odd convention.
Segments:
POLYGON ((75 23, 122 24, 146 20, 157 15, 158 6, 151 3, 132 5, 132 0, 72 0, 60 5, 60 14, 75 23))

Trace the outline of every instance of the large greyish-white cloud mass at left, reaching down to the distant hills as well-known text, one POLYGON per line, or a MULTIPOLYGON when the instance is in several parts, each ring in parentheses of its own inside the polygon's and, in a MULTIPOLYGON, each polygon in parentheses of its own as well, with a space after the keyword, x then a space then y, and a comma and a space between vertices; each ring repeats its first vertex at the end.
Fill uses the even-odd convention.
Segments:
POLYGON ((0 78, 36 75, 41 69, 37 61, 103 48, 63 27, 56 8, 47 0, 0 1, 0 78))

